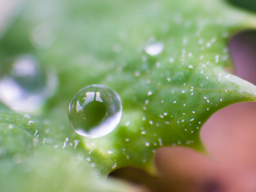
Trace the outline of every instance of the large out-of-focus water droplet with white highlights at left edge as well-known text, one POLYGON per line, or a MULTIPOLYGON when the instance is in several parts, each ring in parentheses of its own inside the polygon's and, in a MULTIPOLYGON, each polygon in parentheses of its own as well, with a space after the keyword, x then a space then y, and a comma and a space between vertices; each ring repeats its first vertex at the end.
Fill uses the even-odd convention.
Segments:
POLYGON ((57 78, 30 55, 21 55, 1 66, 0 100, 13 110, 32 111, 51 96, 57 78))

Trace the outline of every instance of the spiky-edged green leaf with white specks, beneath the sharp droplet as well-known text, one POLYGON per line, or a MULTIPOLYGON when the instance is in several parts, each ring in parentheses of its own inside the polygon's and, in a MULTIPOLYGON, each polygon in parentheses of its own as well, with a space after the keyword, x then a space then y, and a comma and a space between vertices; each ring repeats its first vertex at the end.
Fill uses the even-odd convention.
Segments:
MULTIPOLYGON (((51 141, 47 145, 57 148, 65 143, 65 150, 89 158, 102 175, 124 166, 153 171, 152 157, 162 146, 205 152, 202 124, 223 107, 256 100, 254 85, 224 70, 232 68, 228 38, 255 27, 255 21, 211 0, 28 2, 0 41, 0 58, 33 54, 45 68, 55 68, 60 84, 43 108, 31 113, 38 119, 33 129, 14 114, 9 121, 3 113, 1 121, 21 127, 39 143, 51 141), (36 39, 37 27, 50 31, 51 45, 42 43, 47 37, 36 39), (146 48, 155 44, 159 54, 146 48), (67 117, 71 98, 92 84, 116 91, 123 106, 118 127, 97 139, 77 135, 67 117)), ((13 144, 8 157, 37 151, 29 143, 21 149, 13 144)))

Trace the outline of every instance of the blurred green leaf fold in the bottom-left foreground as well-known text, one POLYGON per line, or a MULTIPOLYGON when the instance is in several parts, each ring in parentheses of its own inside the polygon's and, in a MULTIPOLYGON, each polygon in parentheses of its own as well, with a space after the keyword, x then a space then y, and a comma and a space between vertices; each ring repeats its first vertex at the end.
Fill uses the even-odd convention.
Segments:
POLYGON ((83 153, 63 150, 63 144, 59 146, 51 139, 40 139, 36 122, 27 117, 28 115, 9 112, 2 112, 0 115, 2 192, 132 190, 124 183, 97 179, 100 173, 91 170, 94 164, 86 163, 83 153))

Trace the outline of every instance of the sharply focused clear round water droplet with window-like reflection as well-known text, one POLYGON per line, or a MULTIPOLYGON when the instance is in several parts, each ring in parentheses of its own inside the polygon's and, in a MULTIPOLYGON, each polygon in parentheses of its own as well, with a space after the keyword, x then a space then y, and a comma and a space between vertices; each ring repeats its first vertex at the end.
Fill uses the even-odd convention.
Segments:
POLYGON ((98 138, 113 131, 122 115, 120 97, 112 89, 92 85, 81 89, 71 100, 68 118, 81 136, 98 138))

